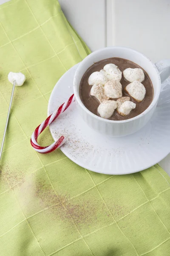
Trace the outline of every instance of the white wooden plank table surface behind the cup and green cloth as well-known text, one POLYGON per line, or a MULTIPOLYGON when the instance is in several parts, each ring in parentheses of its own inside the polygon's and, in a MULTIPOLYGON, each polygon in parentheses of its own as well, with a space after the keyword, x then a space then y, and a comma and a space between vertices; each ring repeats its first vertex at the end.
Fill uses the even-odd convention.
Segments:
MULTIPOLYGON (((0 4, 6 1, 0 0, 0 4)), ((170 58, 170 0, 59 0, 59 3, 92 51, 119 45, 139 50, 153 62, 170 58)), ((160 165, 170 175, 170 154, 160 165)))

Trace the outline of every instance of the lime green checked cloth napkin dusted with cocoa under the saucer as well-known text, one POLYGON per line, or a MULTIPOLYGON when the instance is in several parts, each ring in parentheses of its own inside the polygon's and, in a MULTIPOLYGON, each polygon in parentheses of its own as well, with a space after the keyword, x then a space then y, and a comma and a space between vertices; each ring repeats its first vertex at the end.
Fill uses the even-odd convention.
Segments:
MULTIPOLYGON (((170 177, 158 165, 108 176, 60 150, 31 148, 54 85, 88 53, 57 0, 0 6, 0 141, 12 89, 7 75, 27 78, 14 93, 0 164, 0 256, 170 255, 170 177)), ((52 141, 48 130, 39 140, 52 141)))

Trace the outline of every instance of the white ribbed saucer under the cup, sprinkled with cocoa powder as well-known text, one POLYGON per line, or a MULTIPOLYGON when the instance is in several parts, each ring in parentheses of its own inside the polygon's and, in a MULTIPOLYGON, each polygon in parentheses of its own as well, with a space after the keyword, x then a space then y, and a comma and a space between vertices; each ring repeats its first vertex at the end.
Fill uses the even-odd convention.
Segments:
MULTIPOLYGON (((73 93, 77 67, 78 64, 68 70, 55 85, 48 103, 48 115, 73 93)), ((79 116, 75 103, 50 125, 50 131, 54 140, 65 136, 62 152, 85 169, 110 175, 147 169, 170 152, 170 79, 162 84, 154 116, 135 134, 114 138, 97 133, 79 116)))

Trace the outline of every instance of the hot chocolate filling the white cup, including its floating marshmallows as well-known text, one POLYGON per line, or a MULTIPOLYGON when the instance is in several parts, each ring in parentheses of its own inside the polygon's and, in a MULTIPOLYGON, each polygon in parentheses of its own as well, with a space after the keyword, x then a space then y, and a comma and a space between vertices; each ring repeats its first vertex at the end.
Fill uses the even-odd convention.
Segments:
POLYGON ((148 108, 153 99, 153 85, 139 65, 123 58, 108 58, 94 63, 85 72, 80 82, 80 97, 92 113, 106 119, 125 120, 148 108))

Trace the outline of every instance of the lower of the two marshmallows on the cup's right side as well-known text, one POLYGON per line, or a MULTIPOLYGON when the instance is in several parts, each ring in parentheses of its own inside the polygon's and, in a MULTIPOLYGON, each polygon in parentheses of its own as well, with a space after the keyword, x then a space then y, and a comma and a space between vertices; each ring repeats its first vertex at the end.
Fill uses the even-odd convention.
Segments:
POLYGON ((125 90, 133 99, 136 99, 137 102, 141 102, 144 99, 146 93, 144 85, 139 81, 134 81, 130 84, 127 84, 125 90))

